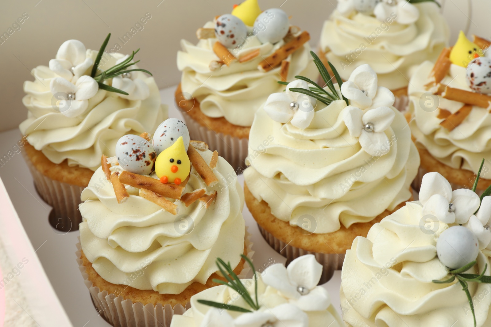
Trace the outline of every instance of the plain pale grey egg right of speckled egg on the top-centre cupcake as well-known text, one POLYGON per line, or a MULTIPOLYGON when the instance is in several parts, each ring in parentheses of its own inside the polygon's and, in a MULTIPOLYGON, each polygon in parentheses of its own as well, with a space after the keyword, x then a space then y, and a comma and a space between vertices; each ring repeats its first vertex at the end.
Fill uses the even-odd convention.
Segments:
POLYGON ((289 28, 288 15, 281 9, 272 8, 257 16, 253 33, 261 43, 276 43, 286 36, 289 28))

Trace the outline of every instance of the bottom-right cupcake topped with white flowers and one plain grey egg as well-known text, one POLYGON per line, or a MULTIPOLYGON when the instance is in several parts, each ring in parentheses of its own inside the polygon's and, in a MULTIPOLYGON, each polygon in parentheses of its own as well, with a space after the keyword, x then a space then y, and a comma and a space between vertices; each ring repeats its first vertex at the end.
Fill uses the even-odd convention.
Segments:
POLYGON ((348 327, 491 325, 491 197, 452 191, 436 172, 407 202, 357 237, 341 271, 348 327))

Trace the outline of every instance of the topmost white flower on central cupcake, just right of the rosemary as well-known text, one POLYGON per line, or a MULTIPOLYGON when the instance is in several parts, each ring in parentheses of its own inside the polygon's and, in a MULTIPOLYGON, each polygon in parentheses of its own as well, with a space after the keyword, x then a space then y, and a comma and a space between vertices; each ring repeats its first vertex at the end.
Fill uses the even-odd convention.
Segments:
POLYGON ((355 107, 366 109, 394 104, 394 94, 378 86, 377 73, 368 65, 356 67, 350 78, 341 85, 341 93, 355 107))

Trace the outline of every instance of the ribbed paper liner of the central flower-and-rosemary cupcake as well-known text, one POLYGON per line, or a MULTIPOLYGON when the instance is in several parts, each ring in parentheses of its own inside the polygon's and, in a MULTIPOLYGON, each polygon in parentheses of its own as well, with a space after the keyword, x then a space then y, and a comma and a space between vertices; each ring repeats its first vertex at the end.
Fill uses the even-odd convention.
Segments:
POLYGON ((276 252, 286 257, 287 266, 288 264, 290 264, 290 262, 292 262, 294 259, 298 258, 299 256, 305 254, 315 255, 315 259, 317 260, 317 262, 319 262, 323 266, 322 276, 321 276, 321 280, 319 281, 319 285, 329 281, 332 275, 334 275, 335 270, 341 270, 341 268, 343 268, 345 254, 318 253, 318 252, 311 252, 300 248, 296 248, 294 246, 286 244, 283 241, 280 241, 279 239, 274 237, 273 234, 271 234, 266 229, 261 227, 259 224, 257 226, 259 227, 259 231, 261 232, 261 235, 263 235, 263 238, 266 240, 266 242, 268 242, 268 244, 276 252))

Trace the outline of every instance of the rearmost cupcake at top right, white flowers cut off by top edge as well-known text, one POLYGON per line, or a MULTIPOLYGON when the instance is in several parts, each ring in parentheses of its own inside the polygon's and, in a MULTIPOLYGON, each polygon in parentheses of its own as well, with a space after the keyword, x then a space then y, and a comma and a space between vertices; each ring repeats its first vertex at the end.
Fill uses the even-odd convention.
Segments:
POLYGON ((408 84, 423 61, 435 61, 447 46, 449 28, 434 0, 338 0, 324 23, 320 57, 332 62, 343 80, 369 64, 379 83, 405 110, 408 84))

